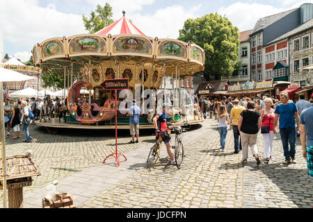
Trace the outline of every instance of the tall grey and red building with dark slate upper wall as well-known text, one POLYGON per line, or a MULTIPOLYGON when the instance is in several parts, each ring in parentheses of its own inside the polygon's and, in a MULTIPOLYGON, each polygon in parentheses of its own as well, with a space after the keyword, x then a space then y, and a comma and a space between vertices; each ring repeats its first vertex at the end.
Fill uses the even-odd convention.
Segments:
POLYGON ((269 76, 290 80, 289 69, 286 69, 286 65, 289 66, 289 42, 287 37, 281 36, 312 18, 313 3, 304 3, 299 8, 259 19, 250 34, 250 80, 260 82, 269 76))

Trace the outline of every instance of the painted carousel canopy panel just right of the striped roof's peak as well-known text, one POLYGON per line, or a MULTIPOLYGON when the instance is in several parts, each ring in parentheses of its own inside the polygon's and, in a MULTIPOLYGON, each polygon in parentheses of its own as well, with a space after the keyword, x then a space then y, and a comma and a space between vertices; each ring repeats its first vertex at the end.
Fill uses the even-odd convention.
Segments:
POLYGON ((141 35, 113 35, 112 55, 152 57, 153 39, 141 35))

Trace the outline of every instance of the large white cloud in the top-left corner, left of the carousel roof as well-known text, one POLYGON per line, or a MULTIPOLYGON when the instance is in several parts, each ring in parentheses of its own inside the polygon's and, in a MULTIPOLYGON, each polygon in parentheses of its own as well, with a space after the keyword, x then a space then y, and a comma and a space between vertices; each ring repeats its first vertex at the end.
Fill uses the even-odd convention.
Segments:
POLYGON ((1 1, 0 27, 7 42, 29 51, 50 37, 86 33, 81 15, 58 12, 54 4, 43 8, 36 0, 1 1))

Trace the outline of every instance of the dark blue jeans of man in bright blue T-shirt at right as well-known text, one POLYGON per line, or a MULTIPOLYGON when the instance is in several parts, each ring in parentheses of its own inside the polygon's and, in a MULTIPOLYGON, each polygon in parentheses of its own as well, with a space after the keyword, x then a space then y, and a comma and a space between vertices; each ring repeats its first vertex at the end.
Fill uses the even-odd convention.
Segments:
POLYGON ((280 128, 280 138, 282 139, 282 148, 284 148, 284 157, 287 159, 294 157, 296 155, 296 128, 280 128))

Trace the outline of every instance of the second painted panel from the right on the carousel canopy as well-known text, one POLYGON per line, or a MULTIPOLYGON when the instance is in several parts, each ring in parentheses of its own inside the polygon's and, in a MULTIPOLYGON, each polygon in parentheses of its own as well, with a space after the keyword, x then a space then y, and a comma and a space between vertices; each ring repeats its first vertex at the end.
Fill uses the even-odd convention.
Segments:
POLYGON ((187 45, 177 40, 159 40, 157 58, 187 60, 187 45))

